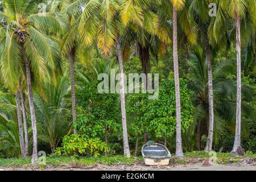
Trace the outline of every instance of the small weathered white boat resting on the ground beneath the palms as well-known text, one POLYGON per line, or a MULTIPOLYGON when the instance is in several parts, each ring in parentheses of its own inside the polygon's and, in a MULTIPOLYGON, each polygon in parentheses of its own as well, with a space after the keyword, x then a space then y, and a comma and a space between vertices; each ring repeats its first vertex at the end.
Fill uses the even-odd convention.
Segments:
POLYGON ((151 141, 142 147, 142 156, 148 166, 167 166, 171 159, 171 153, 166 146, 151 141))

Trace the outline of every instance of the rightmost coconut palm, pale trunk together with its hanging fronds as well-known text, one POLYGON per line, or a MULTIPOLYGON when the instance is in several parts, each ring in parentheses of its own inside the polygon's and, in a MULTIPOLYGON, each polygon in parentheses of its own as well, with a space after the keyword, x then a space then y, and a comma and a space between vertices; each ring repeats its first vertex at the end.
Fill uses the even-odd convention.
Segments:
POLYGON ((229 17, 234 19, 234 27, 236 30, 236 47, 237 47, 237 115, 236 115, 236 136, 234 139, 232 155, 242 155, 241 147, 241 101, 242 101, 242 83, 241 83, 241 20, 245 18, 248 13, 255 23, 256 7, 255 1, 239 0, 239 1, 214 1, 217 3, 218 11, 217 17, 212 23, 213 38, 219 40, 217 37, 225 26, 226 20, 229 17))

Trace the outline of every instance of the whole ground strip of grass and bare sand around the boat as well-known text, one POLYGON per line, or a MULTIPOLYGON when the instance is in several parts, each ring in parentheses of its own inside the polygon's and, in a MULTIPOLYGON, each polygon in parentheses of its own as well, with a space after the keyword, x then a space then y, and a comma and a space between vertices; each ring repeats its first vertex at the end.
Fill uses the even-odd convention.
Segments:
POLYGON ((47 156, 46 164, 32 165, 30 159, 0 159, 1 170, 255 170, 256 154, 230 156, 217 153, 216 164, 209 164, 206 152, 189 152, 185 160, 172 158, 169 166, 150 167, 143 163, 143 158, 123 158, 121 155, 99 156, 97 158, 75 158, 66 156, 47 156))

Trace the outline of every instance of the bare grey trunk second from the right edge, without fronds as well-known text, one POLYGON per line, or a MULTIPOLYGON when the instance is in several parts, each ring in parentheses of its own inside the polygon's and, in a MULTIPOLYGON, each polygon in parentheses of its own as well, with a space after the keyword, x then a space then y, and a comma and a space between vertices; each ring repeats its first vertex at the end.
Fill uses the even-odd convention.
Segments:
POLYGON ((213 111, 213 85, 212 85, 212 60, 210 59, 210 45, 207 46, 207 67, 208 67, 208 89, 209 89, 209 132, 205 151, 212 150, 213 143, 213 126, 214 126, 214 111, 213 111))

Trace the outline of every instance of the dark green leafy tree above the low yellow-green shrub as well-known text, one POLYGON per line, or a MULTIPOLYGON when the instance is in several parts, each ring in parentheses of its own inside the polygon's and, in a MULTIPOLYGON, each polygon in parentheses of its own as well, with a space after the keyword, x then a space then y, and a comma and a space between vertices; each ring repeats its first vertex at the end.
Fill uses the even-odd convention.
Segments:
POLYGON ((100 94, 98 81, 77 90, 77 121, 75 129, 90 137, 109 137, 121 128, 118 94, 100 94))

